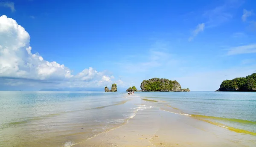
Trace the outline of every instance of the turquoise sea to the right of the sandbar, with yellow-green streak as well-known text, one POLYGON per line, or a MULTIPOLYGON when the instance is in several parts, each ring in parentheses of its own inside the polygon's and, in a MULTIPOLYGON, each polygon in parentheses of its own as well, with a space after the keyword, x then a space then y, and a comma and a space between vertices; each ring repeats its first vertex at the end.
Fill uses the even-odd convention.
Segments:
POLYGON ((163 101, 175 113, 256 135, 256 92, 141 92, 140 96, 163 101))

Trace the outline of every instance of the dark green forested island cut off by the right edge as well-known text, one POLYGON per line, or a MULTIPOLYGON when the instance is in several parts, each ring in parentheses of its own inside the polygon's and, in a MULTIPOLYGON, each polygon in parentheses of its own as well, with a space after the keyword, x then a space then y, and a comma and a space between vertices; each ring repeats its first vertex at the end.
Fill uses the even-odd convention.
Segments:
POLYGON ((247 77, 224 80, 218 90, 215 91, 241 91, 256 92, 256 73, 247 77))

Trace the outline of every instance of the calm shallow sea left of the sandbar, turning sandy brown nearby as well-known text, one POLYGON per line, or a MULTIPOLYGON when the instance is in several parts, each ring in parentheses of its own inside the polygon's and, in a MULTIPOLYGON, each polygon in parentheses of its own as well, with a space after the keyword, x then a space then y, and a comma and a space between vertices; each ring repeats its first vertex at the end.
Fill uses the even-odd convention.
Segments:
POLYGON ((0 92, 0 146, 70 146, 110 130, 136 112, 125 94, 0 92))

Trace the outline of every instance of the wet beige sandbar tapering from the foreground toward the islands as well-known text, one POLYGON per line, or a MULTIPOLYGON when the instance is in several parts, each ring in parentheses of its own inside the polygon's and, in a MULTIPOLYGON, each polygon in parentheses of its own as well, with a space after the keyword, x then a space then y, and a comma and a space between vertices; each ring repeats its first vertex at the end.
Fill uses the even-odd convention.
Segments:
MULTIPOLYGON (((149 105, 152 102, 144 103, 149 105)), ((255 140, 253 135, 235 133, 153 107, 139 110, 121 127, 72 147, 254 147, 255 140)))

